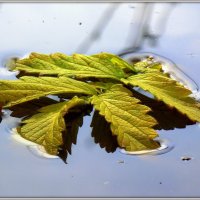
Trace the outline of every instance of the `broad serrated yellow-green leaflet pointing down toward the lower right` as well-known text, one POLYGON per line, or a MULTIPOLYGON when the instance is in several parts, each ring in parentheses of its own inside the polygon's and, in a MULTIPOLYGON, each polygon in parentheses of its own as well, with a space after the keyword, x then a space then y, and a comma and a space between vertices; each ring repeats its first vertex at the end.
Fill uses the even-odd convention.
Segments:
POLYGON ((153 140, 157 133, 152 128, 156 120, 147 113, 150 109, 130 97, 127 89, 115 85, 110 91, 92 97, 92 104, 100 115, 111 124, 119 146, 128 151, 154 149, 159 145, 153 140))

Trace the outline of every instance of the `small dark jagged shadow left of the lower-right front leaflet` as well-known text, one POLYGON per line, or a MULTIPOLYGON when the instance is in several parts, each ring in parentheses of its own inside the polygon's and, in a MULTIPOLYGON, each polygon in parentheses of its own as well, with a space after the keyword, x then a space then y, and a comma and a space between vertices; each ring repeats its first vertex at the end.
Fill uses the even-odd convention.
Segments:
POLYGON ((101 148, 105 148, 110 153, 119 147, 117 137, 112 135, 110 130, 110 124, 96 110, 90 126, 93 128, 92 137, 94 137, 95 143, 99 143, 101 148))

